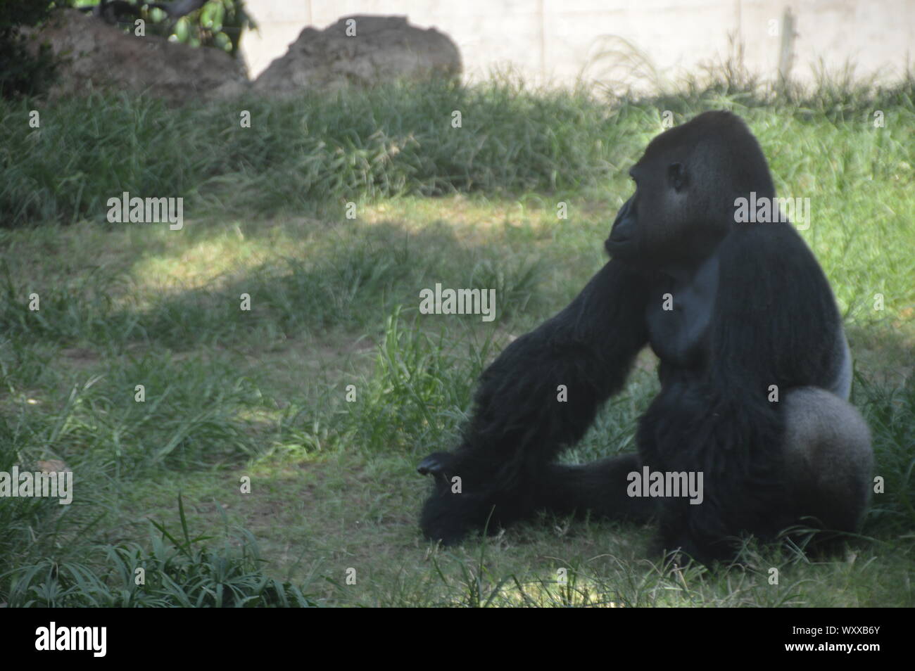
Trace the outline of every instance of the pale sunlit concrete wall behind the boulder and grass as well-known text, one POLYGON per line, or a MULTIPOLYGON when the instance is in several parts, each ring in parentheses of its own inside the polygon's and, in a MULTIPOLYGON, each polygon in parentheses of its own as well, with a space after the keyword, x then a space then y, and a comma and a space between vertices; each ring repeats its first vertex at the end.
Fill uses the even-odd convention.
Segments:
POLYGON ((812 80, 821 61, 856 76, 892 80, 915 58, 915 0, 248 0, 259 33, 242 51, 256 77, 306 26, 350 14, 406 15, 457 44, 469 80, 513 69, 533 83, 579 75, 618 84, 674 81, 728 58, 741 43, 749 69, 812 80), (786 8, 794 17, 785 41, 786 8), (785 52, 782 55, 782 52, 785 52), (633 59, 640 52, 644 58, 633 59))

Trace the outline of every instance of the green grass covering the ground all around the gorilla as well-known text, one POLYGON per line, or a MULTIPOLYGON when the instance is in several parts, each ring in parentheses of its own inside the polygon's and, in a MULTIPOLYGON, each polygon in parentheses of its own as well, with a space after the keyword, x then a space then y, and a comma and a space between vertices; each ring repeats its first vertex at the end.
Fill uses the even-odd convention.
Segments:
MULTIPOLYGON (((0 144, 0 471, 60 460, 76 495, 0 500, 0 602, 915 604, 915 107, 910 80, 849 86, 612 103, 382 87, 245 101, 250 129, 230 103, 43 107, 39 131, 0 144), (482 367, 600 267, 661 112, 720 108, 748 121, 780 195, 811 198, 802 235, 885 479, 860 537, 828 560, 748 547, 716 572, 648 557, 650 527, 556 518, 429 546, 414 464, 453 445, 482 367), (105 223, 124 190, 186 197, 185 228, 105 223), (496 320, 419 314, 436 282, 496 288, 496 320)), ((0 103, 0 122, 34 106, 0 103)), ((654 365, 640 357, 570 461, 634 449, 654 365)))

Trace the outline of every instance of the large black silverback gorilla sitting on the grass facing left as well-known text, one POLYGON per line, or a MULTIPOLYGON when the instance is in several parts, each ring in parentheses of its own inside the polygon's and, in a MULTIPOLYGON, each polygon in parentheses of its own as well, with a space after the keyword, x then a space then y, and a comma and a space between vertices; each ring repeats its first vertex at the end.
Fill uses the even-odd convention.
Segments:
POLYGON ((654 138, 630 176, 610 261, 486 368, 458 448, 419 463, 434 476, 425 537, 457 543, 544 510, 655 519, 655 551, 705 564, 735 559, 741 537, 800 527, 834 546, 867 507, 870 435, 847 402, 851 357, 813 253, 783 217, 738 222, 738 198, 777 202, 756 138, 705 112, 654 138), (661 391, 638 453, 556 463, 645 345, 661 391), (702 495, 633 495, 655 473, 698 474, 702 495))

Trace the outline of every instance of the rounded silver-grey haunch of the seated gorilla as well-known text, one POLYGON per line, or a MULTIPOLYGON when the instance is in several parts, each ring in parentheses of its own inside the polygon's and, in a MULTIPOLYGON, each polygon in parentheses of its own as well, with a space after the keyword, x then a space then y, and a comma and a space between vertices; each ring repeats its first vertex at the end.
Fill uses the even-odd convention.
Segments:
POLYGON ((867 424, 825 389, 791 389, 784 402, 785 466, 799 517, 814 517, 823 529, 855 531, 871 491, 867 424))

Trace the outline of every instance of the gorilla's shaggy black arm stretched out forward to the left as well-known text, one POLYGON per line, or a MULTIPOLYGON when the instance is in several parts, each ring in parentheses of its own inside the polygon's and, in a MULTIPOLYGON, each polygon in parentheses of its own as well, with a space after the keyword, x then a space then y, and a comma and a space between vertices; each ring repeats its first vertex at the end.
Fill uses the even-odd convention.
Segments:
POLYGON ((506 525, 549 504, 551 483, 575 468, 550 462, 581 439, 648 340, 650 284, 609 261, 565 310, 512 342, 483 372, 458 450, 430 454, 417 468, 436 478, 420 521, 428 538, 457 542, 488 520, 506 525), (452 493, 454 476, 460 493, 452 493))

